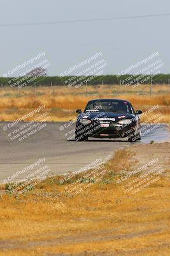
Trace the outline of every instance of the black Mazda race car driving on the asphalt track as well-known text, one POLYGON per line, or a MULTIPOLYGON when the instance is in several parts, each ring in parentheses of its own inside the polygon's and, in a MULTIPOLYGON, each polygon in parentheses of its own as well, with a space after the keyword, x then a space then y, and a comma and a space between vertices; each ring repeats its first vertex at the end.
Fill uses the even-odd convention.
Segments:
POLYGON ((139 115, 131 102, 120 99, 90 100, 76 121, 75 140, 86 141, 94 138, 128 138, 129 141, 141 140, 139 115))

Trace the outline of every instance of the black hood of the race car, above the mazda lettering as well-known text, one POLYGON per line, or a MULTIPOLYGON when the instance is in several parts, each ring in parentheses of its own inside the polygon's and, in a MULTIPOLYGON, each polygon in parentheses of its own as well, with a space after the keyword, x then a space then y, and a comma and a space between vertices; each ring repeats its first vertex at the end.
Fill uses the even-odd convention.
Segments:
POLYGON ((79 118, 86 118, 86 119, 93 119, 99 118, 99 120, 103 120, 102 118, 115 118, 115 121, 121 120, 121 119, 131 119, 134 118, 134 114, 129 114, 129 113, 113 113, 113 112, 85 112, 81 113, 78 117, 79 118))

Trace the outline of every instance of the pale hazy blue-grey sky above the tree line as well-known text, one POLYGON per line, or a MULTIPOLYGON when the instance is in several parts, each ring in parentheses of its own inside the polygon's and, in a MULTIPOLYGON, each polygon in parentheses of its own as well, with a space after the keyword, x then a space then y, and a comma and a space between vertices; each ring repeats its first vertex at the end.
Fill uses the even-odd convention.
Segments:
MULTIPOLYGON (((0 0, 0 3, 0 25, 170 13, 169 0, 0 0)), ((50 76, 57 76, 100 51, 108 63, 105 74, 117 74, 157 51, 164 62, 161 72, 170 73, 169 24, 170 16, 0 26, 0 76, 38 52, 45 52, 50 61, 50 76)))

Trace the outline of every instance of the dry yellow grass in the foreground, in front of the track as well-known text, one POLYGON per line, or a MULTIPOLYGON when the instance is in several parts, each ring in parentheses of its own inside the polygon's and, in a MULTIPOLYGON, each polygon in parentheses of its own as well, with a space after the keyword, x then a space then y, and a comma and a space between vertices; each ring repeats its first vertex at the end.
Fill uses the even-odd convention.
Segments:
MULTIPOLYGON (((131 151, 118 150, 108 170, 120 161, 129 170, 131 151)), ((28 195, 3 195, 0 255, 169 255, 169 178, 134 195, 124 193, 118 178, 107 173, 103 182, 74 196, 65 192, 67 184, 59 185, 59 177, 28 195)))

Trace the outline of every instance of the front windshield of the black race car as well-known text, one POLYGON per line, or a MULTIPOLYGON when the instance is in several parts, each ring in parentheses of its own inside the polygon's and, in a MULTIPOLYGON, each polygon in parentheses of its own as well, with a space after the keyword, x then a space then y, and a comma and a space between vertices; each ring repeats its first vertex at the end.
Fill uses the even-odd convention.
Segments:
POLYGON ((124 100, 96 100, 87 104, 85 112, 132 113, 132 109, 124 100))

